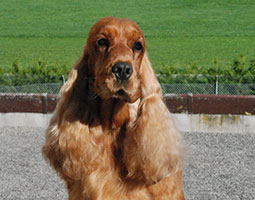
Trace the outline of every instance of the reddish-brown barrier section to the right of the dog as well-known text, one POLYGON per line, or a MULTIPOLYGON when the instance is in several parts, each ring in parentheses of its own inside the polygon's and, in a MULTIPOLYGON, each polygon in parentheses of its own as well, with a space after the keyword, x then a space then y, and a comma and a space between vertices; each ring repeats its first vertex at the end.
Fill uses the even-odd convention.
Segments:
POLYGON ((172 113, 254 115, 255 96, 166 94, 165 102, 172 113))

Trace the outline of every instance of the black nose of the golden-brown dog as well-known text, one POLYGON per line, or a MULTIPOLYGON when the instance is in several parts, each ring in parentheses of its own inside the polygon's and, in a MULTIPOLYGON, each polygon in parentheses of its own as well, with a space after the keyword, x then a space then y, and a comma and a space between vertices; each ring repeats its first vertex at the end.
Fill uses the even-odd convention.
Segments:
POLYGON ((116 78, 121 81, 126 81, 130 78, 133 73, 133 68, 130 63, 117 62, 112 67, 112 72, 115 74, 116 78))

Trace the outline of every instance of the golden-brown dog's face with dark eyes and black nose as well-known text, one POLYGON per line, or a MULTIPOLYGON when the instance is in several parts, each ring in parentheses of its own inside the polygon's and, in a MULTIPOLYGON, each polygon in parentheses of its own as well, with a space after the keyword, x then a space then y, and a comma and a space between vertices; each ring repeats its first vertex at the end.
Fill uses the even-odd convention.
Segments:
POLYGON ((139 69, 145 39, 136 23, 107 17, 90 30, 86 43, 94 92, 102 99, 134 102, 140 97, 139 69))

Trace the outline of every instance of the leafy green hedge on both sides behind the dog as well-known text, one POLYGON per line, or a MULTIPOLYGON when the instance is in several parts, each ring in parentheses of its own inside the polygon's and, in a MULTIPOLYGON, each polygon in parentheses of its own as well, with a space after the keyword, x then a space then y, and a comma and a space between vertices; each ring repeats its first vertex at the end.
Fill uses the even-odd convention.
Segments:
MULTIPOLYGON (((70 67, 52 64, 39 59, 33 65, 22 66, 14 62, 12 66, 0 68, 0 85, 21 86, 37 83, 60 83, 68 77, 70 67)), ((254 84, 255 59, 246 61, 244 56, 232 62, 230 66, 220 66, 217 60, 214 66, 204 68, 193 64, 187 67, 162 65, 158 70, 158 79, 162 84, 221 83, 254 84)))

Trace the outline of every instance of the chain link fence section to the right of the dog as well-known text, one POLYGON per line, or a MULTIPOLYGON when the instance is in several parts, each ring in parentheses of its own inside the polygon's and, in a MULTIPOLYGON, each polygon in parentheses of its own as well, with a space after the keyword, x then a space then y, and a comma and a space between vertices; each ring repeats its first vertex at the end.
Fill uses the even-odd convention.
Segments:
POLYGON ((255 76, 158 75, 163 93, 255 95, 255 76))

